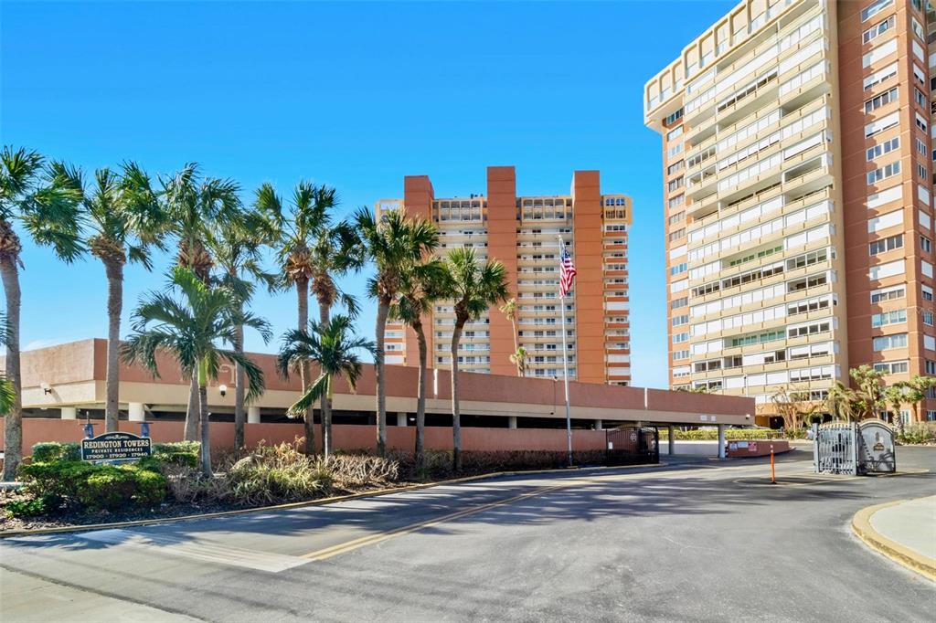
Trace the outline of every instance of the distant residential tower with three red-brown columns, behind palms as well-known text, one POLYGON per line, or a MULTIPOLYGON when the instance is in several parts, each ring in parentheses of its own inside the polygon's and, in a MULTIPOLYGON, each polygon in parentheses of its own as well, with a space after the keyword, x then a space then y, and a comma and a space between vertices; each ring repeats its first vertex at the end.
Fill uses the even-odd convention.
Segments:
MULTIPOLYGON (((627 293, 627 233, 631 199, 603 195, 598 171, 576 171, 568 195, 517 196, 514 167, 488 167, 487 195, 436 197, 424 175, 403 180, 402 199, 377 202, 406 210, 439 227, 439 254, 475 247, 478 258, 500 260, 511 297, 517 299, 516 340, 528 354, 528 376, 562 377, 563 335, 559 302, 559 240, 562 235, 578 276, 565 299, 569 375, 587 383, 627 385, 631 381, 627 293)), ((431 318, 430 367, 451 365, 455 315, 439 302, 431 318)), ((388 364, 418 365, 416 337, 401 325, 387 326, 388 364)), ((516 374, 514 326, 497 308, 465 326, 461 369, 516 374)))

